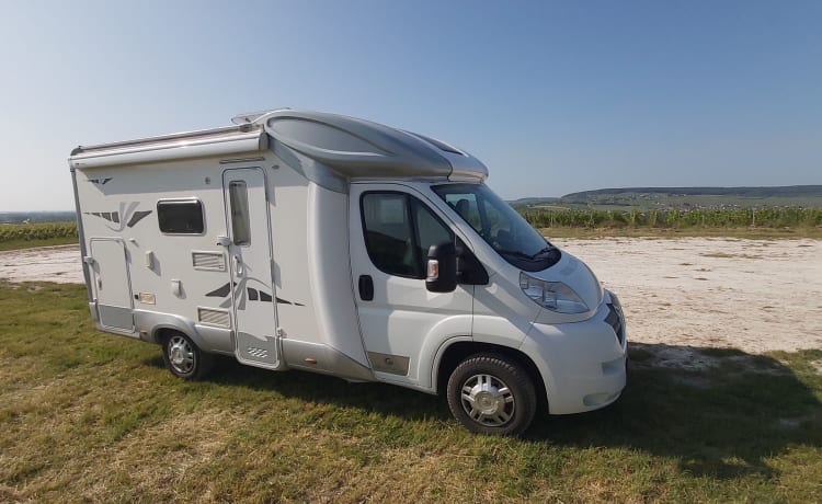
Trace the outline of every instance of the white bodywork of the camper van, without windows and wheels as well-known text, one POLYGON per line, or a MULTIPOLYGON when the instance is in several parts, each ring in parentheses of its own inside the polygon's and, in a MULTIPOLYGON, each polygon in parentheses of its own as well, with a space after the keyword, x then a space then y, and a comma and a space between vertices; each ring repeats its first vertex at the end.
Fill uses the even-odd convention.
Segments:
POLYGON ((479 160, 350 117, 272 111, 243 121, 78 148, 69 158, 100 329, 149 341, 171 329, 204 351, 254 366, 290 365, 426 392, 441 392, 438 365, 450 345, 490 344, 534 363, 552 413, 586 411, 618 397, 625 343, 604 322, 610 297, 590 270, 563 254, 532 273, 568 284, 591 308, 580 314, 543 309, 522 291, 521 271, 432 191, 482 183, 488 172, 479 160), (248 187, 251 245, 238 245, 231 236, 225 190, 231 181, 248 187), (361 195, 367 191, 421 202, 477 256, 488 284, 431 293, 424 279, 379 271, 364 240, 361 195), (201 202, 204 231, 160 232, 157 205, 164 199, 201 202), (194 266, 194 253, 206 255, 206 267, 194 266), (359 296, 361 275, 373 279, 370 301, 359 296), (111 284, 117 287, 107 290, 111 284), (263 302, 262 291, 272 300, 263 302), (201 321, 198 313, 209 319, 201 321), (369 353, 408 362, 408 371, 376 371, 369 353))

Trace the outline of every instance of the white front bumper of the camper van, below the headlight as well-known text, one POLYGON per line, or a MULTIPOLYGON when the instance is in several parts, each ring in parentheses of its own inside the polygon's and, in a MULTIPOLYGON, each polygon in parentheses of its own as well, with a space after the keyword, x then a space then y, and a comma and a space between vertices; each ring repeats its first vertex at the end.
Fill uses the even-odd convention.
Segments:
POLYGON ((625 317, 616 296, 607 290, 594 317, 574 323, 535 323, 521 350, 543 375, 551 414, 603 408, 625 388, 625 317))

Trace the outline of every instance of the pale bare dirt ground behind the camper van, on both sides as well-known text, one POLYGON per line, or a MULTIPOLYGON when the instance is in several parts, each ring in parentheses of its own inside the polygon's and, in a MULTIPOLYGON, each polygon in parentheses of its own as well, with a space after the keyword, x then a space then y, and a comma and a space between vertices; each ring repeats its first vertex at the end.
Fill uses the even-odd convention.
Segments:
MULTIPOLYGON (((821 240, 607 238, 553 243, 585 261, 619 295, 631 342, 671 345, 672 352, 822 348, 821 240)), ((76 245, 0 252, 0 278, 82 283, 80 253, 76 245)))

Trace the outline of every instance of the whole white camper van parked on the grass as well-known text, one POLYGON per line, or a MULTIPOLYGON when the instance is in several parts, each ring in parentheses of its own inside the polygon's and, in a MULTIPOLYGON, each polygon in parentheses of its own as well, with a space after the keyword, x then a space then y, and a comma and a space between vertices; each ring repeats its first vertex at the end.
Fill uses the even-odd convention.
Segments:
POLYGON ((444 394, 520 434, 626 383, 617 297, 486 185, 463 149, 327 113, 78 147, 91 317, 169 371, 215 355, 444 394))

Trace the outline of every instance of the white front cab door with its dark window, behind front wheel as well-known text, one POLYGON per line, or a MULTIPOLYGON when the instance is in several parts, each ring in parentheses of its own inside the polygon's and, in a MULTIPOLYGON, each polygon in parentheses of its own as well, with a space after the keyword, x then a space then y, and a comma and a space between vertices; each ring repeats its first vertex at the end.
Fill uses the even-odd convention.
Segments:
POLYGON ((427 385, 430 367, 420 366, 421 354, 447 337, 471 334, 473 286, 430 293, 429 248, 453 242, 454 232, 403 186, 365 187, 352 184, 350 226, 357 314, 368 360, 386 380, 427 385))

